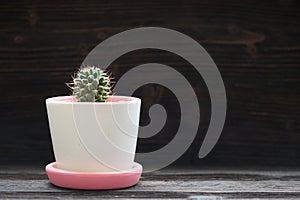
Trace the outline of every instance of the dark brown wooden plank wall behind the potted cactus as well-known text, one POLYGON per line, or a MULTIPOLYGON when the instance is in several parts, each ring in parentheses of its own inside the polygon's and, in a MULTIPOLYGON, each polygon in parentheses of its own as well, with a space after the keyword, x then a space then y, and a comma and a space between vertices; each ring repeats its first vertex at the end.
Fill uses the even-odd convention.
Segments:
MULTIPOLYGON (((116 79, 148 62, 179 70, 196 91, 202 119, 197 138, 175 164, 199 166, 300 165, 300 6, 274 1, 1 1, 0 164, 53 161, 45 99, 68 94, 64 83, 97 44, 131 28, 157 26, 198 41, 217 64, 228 111, 221 138, 197 157, 209 124, 210 100, 201 77, 178 56, 139 50, 117 59, 116 79)), ((178 102, 164 87, 147 85, 141 123, 153 103, 169 113, 164 129, 140 139, 139 152, 168 143, 176 134, 178 102)))

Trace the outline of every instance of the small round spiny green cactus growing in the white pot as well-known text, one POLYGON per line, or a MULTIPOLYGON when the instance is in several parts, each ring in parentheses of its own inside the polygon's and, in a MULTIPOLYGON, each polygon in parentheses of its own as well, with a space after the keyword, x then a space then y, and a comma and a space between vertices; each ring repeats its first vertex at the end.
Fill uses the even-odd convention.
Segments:
POLYGON ((98 67, 80 68, 72 84, 78 102, 105 102, 111 94, 110 76, 98 67))

